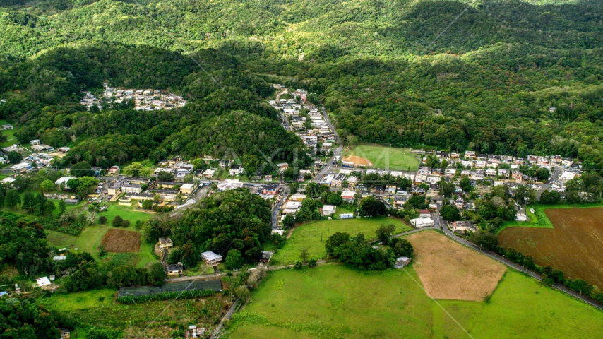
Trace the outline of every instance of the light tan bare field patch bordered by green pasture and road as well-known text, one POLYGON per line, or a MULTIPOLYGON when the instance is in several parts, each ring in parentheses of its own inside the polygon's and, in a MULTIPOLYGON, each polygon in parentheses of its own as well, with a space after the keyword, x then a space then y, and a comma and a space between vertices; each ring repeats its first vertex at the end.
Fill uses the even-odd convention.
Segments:
POLYGON ((491 295, 506 267, 438 232, 411 234, 414 270, 427 295, 436 299, 481 301, 491 295))

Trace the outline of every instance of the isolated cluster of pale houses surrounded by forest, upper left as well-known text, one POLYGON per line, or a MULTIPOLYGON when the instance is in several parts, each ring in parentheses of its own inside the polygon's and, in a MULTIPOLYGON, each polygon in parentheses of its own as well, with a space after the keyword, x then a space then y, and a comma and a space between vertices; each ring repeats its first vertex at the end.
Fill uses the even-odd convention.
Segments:
MULTIPOLYGON (((136 106, 134 109, 137 111, 152 111, 154 109, 173 109, 174 107, 182 107, 186 105, 186 100, 180 95, 163 92, 162 90, 153 89, 119 89, 109 87, 109 83, 103 83, 105 91, 102 93, 106 102, 110 104, 119 104, 134 100, 136 106)), ((85 105, 90 109, 93 105, 96 105, 99 109, 102 109, 98 97, 90 92, 84 93, 83 99, 80 101, 81 105, 85 105)))

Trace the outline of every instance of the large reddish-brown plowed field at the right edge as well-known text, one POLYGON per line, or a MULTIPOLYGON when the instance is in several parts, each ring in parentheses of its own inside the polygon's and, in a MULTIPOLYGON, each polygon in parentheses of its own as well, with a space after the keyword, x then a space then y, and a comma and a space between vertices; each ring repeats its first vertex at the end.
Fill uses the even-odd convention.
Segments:
POLYGON ((548 208, 544 213, 554 228, 508 227, 498 234, 501 246, 603 287, 603 208, 548 208))

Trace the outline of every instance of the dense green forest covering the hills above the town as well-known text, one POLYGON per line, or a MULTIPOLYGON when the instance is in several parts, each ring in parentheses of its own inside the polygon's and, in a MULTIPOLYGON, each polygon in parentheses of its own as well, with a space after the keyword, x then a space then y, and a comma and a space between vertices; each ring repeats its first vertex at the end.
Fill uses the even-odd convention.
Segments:
POLYGON ((64 165, 234 150, 254 169, 262 153, 290 160, 301 147, 263 104, 281 82, 316 93, 350 143, 559 154, 602 168, 602 5, 5 1, 0 117, 23 124, 20 141, 75 145, 64 165), (81 92, 103 81, 191 102, 85 112, 81 92))

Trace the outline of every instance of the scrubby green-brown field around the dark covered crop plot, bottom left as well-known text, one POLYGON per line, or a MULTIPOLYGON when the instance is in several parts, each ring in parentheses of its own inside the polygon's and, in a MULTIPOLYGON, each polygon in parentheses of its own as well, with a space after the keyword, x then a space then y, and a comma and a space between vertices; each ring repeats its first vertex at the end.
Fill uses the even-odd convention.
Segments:
MULTIPOLYGON (((38 298, 37 302, 49 309, 70 314, 80 326, 101 326, 124 332, 124 338, 169 338, 169 333, 179 324, 213 328, 215 319, 221 318, 230 298, 222 293, 196 299, 151 301, 141 304, 114 302, 114 289, 100 289, 74 293, 55 293, 52 297, 38 298), (143 333, 143 330, 145 331, 143 333), (138 337, 141 338, 141 337, 138 337)), ((85 338, 85 329, 72 332, 71 338, 85 338), (74 335, 75 332, 75 335, 74 335)))

